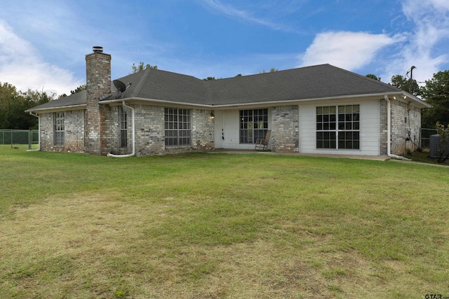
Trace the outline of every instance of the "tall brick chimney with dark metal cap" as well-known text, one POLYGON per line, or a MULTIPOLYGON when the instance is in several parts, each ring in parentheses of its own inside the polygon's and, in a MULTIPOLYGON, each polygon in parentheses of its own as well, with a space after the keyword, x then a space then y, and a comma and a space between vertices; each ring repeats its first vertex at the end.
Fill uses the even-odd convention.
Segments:
POLYGON ((103 48, 93 47, 93 53, 86 55, 86 153, 106 155, 108 146, 106 117, 109 106, 98 101, 111 94, 111 55, 103 48))

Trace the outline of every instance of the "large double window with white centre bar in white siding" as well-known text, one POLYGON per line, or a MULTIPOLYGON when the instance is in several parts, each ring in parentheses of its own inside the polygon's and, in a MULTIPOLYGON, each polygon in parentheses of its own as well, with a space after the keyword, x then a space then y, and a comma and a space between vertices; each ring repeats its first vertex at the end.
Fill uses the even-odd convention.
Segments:
POLYGON ((360 106, 316 107, 316 148, 360 149, 360 106))

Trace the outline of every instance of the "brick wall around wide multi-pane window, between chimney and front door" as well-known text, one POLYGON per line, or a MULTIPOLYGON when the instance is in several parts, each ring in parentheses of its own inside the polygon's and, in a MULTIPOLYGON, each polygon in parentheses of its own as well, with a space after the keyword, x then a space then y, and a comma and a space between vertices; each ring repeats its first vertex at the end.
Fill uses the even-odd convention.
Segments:
MULTIPOLYGON (((187 153, 214 149, 214 123, 209 110, 192 109, 192 145, 165 146, 164 107, 130 104, 135 109, 135 155, 157 155, 162 153, 187 153)), ((110 153, 132 153, 133 123, 128 110, 128 148, 119 148, 119 106, 111 109, 110 153)))

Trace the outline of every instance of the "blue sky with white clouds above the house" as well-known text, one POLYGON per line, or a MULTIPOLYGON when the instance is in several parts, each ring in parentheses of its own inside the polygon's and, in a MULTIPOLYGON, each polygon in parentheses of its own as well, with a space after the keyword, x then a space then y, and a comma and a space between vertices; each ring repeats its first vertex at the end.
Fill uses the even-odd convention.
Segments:
POLYGON ((449 1, 2 1, 1 83, 69 94, 93 46, 113 79, 139 62, 197 78, 329 63, 422 82, 449 69, 449 1))

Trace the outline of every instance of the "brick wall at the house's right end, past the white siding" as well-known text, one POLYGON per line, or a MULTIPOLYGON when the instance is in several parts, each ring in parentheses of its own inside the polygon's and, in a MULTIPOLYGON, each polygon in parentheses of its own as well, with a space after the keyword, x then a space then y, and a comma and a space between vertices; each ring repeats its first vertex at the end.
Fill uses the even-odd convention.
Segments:
MULTIPOLYGON (((403 155, 413 148, 411 141, 420 143, 421 109, 395 99, 390 102, 391 153, 403 155)), ((387 155, 387 101, 384 99, 380 101, 380 154, 387 155)))

